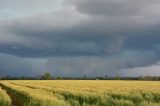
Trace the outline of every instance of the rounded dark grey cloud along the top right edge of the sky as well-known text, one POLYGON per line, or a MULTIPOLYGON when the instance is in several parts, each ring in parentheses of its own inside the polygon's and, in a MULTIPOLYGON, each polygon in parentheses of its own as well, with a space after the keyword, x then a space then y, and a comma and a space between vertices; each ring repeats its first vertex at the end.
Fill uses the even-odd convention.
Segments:
POLYGON ((158 0, 66 0, 69 5, 88 14, 111 16, 141 16, 159 9, 158 0))

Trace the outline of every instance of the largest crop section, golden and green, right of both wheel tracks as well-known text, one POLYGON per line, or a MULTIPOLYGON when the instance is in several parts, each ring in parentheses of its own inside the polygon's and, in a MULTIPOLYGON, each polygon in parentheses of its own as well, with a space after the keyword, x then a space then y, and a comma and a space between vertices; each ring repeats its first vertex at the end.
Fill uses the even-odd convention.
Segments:
MULTIPOLYGON (((9 81, 63 96, 72 106, 159 106, 160 83, 145 81, 9 81)), ((19 85, 18 85, 19 84, 19 85)))

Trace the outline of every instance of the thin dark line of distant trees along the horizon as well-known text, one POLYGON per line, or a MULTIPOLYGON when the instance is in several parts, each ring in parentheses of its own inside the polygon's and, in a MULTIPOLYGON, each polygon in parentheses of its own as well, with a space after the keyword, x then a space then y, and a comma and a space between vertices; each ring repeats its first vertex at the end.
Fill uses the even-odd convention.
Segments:
POLYGON ((160 81, 160 76, 139 76, 139 77, 121 77, 119 75, 115 77, 95 76, 88 77, 86 75, 81 77, 53 77, 50 73, 45 73, 41 76, 36 77, 12 77, 12 76, 0 76, 0 80, 140 80, 140 81, 160 81))

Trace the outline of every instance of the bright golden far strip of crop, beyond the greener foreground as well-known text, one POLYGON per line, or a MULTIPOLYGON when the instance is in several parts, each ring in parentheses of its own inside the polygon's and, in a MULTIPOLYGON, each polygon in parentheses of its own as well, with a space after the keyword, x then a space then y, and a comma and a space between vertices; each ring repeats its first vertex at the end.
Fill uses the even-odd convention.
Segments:
POLYGON ((35 88, 75 89, 93 91, 160 91, 160 82, 154 81, 10 81, 35 88), (118 88, 118 89, 117 89, 118 88))

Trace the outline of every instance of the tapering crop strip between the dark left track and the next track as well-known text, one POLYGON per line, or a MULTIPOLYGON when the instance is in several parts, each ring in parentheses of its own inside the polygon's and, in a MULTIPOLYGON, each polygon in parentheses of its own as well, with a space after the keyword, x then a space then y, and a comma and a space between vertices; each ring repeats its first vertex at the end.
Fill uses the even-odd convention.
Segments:
POLYGON ((1 82, 10 93, 14 93, 15 98, 19 99, 24 106, 69 106, 61 99, 60 95, 45 90, 33 90, 28 87, 1 82))

